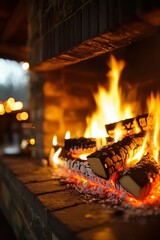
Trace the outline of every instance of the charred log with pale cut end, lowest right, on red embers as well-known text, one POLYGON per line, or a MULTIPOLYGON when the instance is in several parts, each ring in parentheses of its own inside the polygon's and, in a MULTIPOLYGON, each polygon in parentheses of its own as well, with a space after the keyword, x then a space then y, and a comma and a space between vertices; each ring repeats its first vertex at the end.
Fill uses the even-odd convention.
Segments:
POLYGON ((143 200, 149 194, 159 173, 157 162, 150 156, 144 156, 118 178, 121 186, 134 197, 143 200))

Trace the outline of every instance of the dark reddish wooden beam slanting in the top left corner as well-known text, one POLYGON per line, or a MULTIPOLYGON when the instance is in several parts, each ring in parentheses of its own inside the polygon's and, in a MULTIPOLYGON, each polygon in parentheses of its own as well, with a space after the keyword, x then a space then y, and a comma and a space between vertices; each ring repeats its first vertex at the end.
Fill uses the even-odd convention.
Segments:
POLYGON ((15 9, 13 10, 4 30, 2 36, 2 42, 8 41, 18 30, 19 26, 22 24, 26 17, 26 1, 19 0, 15 9))

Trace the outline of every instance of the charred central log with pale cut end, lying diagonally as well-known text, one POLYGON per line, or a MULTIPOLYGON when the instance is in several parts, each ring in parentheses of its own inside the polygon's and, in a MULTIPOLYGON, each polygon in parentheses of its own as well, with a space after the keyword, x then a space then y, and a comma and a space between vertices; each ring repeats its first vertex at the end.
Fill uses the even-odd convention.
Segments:
POLYGON ((95 174, 109 179, 125 162, 135 156, 143 144, 144 133, 132 134, 121 141, 101 148, 87 157, 95 174))

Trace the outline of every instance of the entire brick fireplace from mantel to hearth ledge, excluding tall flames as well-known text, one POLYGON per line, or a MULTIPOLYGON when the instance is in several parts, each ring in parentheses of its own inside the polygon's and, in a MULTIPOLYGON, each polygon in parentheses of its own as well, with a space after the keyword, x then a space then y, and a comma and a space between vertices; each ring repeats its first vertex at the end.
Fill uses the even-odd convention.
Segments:
POLYGON ((150 126, 146 99, 160 91, 159 7, 156 0, 29 1, 34 159, 6 157, 0 163, 2 206, 25 239, 158 239, 159 166, 152 154, 142 155, 140 165, 122 165, 145 142, 144 129, 137 133, 128 124, 150 126), (105 144, 101 137, 84 137, 86 117, 97 108, 98 85, 108 89, 110 63, 124 61, 123 101, 138 101, 141 111, 136 105, 132 117, 106 122, 105 144), (113 142, 108 130, 119 120, 125 134, 113 142), (65 139, 68 130, 71 137, 65 139), (58 144, 52 143, 54 135, 58 144), (88 161, 75 157, 79 151, 89 151, 88 161), (108 159, 101 161, 106 153, 108 159), (47 160, 47 166, 35 158, 43 164, 47 160), (142 169, 144 185, 133 186, 137 169, 142 169))

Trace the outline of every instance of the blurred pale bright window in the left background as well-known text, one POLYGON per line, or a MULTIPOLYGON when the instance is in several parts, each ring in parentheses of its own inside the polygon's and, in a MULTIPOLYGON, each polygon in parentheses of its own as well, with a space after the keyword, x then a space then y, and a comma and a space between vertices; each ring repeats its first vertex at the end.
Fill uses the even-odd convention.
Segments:
MULTIPOLYGON (((28 68, 28 63, 18 63, 0 58, 0 101, 8 99, 7 105, 11 105, 16 99, 16 101, 23 102, 24 108, 28 108, 28 68)), ((10 111, 9 108, 7 111, 10 111)))

